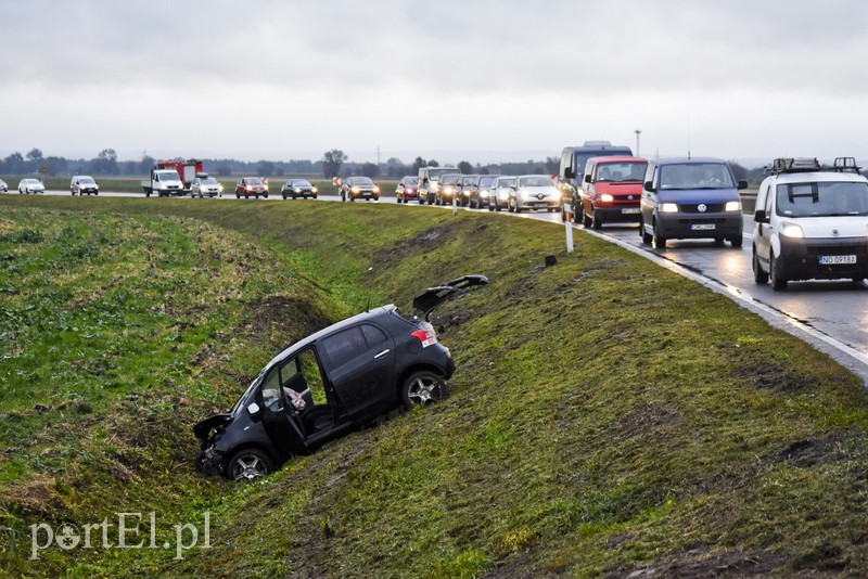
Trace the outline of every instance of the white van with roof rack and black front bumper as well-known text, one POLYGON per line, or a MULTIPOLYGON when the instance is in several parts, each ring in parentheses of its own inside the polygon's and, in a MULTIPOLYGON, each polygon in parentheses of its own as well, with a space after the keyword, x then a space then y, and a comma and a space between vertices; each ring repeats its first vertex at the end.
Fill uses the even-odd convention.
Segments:
POLYGON ((855 158, 778 158, 767 170, 756 194, 754 281, 781 291, 790 281, 868 278, 868 179, 855 158))

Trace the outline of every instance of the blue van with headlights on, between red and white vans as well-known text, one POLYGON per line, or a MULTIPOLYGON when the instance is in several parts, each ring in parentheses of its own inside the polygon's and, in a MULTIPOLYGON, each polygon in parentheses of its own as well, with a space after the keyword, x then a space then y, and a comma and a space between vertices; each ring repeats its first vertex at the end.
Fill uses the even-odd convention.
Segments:
POLYGON ((642 243, 658 249, 667 240, 728 240, 741 247, 742 224, 739 190, 729 164, 716 158, 668 158, 648 163, 639 209, 642 243))

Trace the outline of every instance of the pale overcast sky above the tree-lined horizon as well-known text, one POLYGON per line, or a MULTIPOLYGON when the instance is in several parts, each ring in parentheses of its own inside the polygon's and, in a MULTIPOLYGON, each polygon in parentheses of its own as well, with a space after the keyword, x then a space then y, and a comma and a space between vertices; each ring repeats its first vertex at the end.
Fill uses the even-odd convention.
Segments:
POLYGON ((868 3, 0 0, 0 156, 868 158, 868 3))

